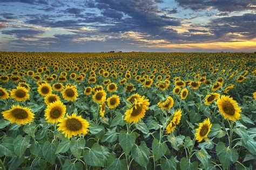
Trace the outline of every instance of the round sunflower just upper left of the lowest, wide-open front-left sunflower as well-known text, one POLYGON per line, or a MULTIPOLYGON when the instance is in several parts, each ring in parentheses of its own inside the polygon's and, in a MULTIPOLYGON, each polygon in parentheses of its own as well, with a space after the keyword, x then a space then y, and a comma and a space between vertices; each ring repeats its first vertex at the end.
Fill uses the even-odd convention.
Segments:
POLYGON ((60 119, 63 119, 66 114, 66 106, 60 102, 56 101, 50 103, 45 109, 45 119, 48 123, 57 123, 60 119))

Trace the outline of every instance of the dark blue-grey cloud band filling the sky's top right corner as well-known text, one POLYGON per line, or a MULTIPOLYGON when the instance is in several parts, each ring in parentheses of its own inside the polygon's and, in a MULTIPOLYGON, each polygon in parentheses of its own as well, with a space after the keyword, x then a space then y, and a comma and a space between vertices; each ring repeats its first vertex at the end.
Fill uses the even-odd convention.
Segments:
POLYGON ((223 12, 233 12, 242 10, 255 10, 255 0, 175 0, 183 8, 192 10, 205 10, 214 8, 223 12))

